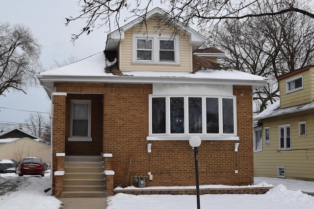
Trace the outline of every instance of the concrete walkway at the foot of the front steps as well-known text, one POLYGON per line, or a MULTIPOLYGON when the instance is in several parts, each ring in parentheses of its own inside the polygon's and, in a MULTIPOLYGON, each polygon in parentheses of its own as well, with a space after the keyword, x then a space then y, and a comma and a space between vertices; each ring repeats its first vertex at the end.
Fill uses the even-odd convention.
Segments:
POLYGON ((107 198, 98 197, 76 197, 76 198, 60 198, 64 203, 63 209, 106 209, 107 198))

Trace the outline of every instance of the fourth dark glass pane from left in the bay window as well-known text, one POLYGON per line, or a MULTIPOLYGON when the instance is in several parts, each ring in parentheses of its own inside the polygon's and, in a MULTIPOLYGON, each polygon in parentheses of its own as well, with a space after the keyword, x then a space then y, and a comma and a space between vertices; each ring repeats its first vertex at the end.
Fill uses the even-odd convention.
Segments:
POLYGON ((218 98, 206 98, 206 130, 208 134, 219 133, 218 98))

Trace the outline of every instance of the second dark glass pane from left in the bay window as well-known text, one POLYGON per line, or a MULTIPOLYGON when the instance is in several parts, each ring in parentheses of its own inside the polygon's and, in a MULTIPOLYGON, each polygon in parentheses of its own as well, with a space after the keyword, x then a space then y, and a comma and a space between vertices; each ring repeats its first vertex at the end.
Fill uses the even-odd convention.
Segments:
POLYGON ((170 132, 172 134, 184 133, 184 98, 170 98, 170 132))

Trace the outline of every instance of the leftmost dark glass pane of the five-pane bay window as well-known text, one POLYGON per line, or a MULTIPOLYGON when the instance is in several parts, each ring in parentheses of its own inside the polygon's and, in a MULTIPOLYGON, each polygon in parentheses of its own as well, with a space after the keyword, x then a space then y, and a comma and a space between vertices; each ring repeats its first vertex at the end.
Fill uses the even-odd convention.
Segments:
POLYGON ((152 98, 152 133, 166 133, 166 99, 152 98))

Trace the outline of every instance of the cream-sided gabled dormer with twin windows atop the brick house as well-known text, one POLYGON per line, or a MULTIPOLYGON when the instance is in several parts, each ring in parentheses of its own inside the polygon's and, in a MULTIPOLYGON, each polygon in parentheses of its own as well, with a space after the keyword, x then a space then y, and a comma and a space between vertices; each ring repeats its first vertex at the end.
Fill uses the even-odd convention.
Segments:
MULTIPOLYGON (((171 24, 157 27, 167 17, 160 8, 148 12, 108 35, 106 51, 115 51, 121 71, 192 72, 192 53, 205 37, 191 28, 174 33, 171 24)), ((170 17, 167 17, 170 18, 170 17)))

